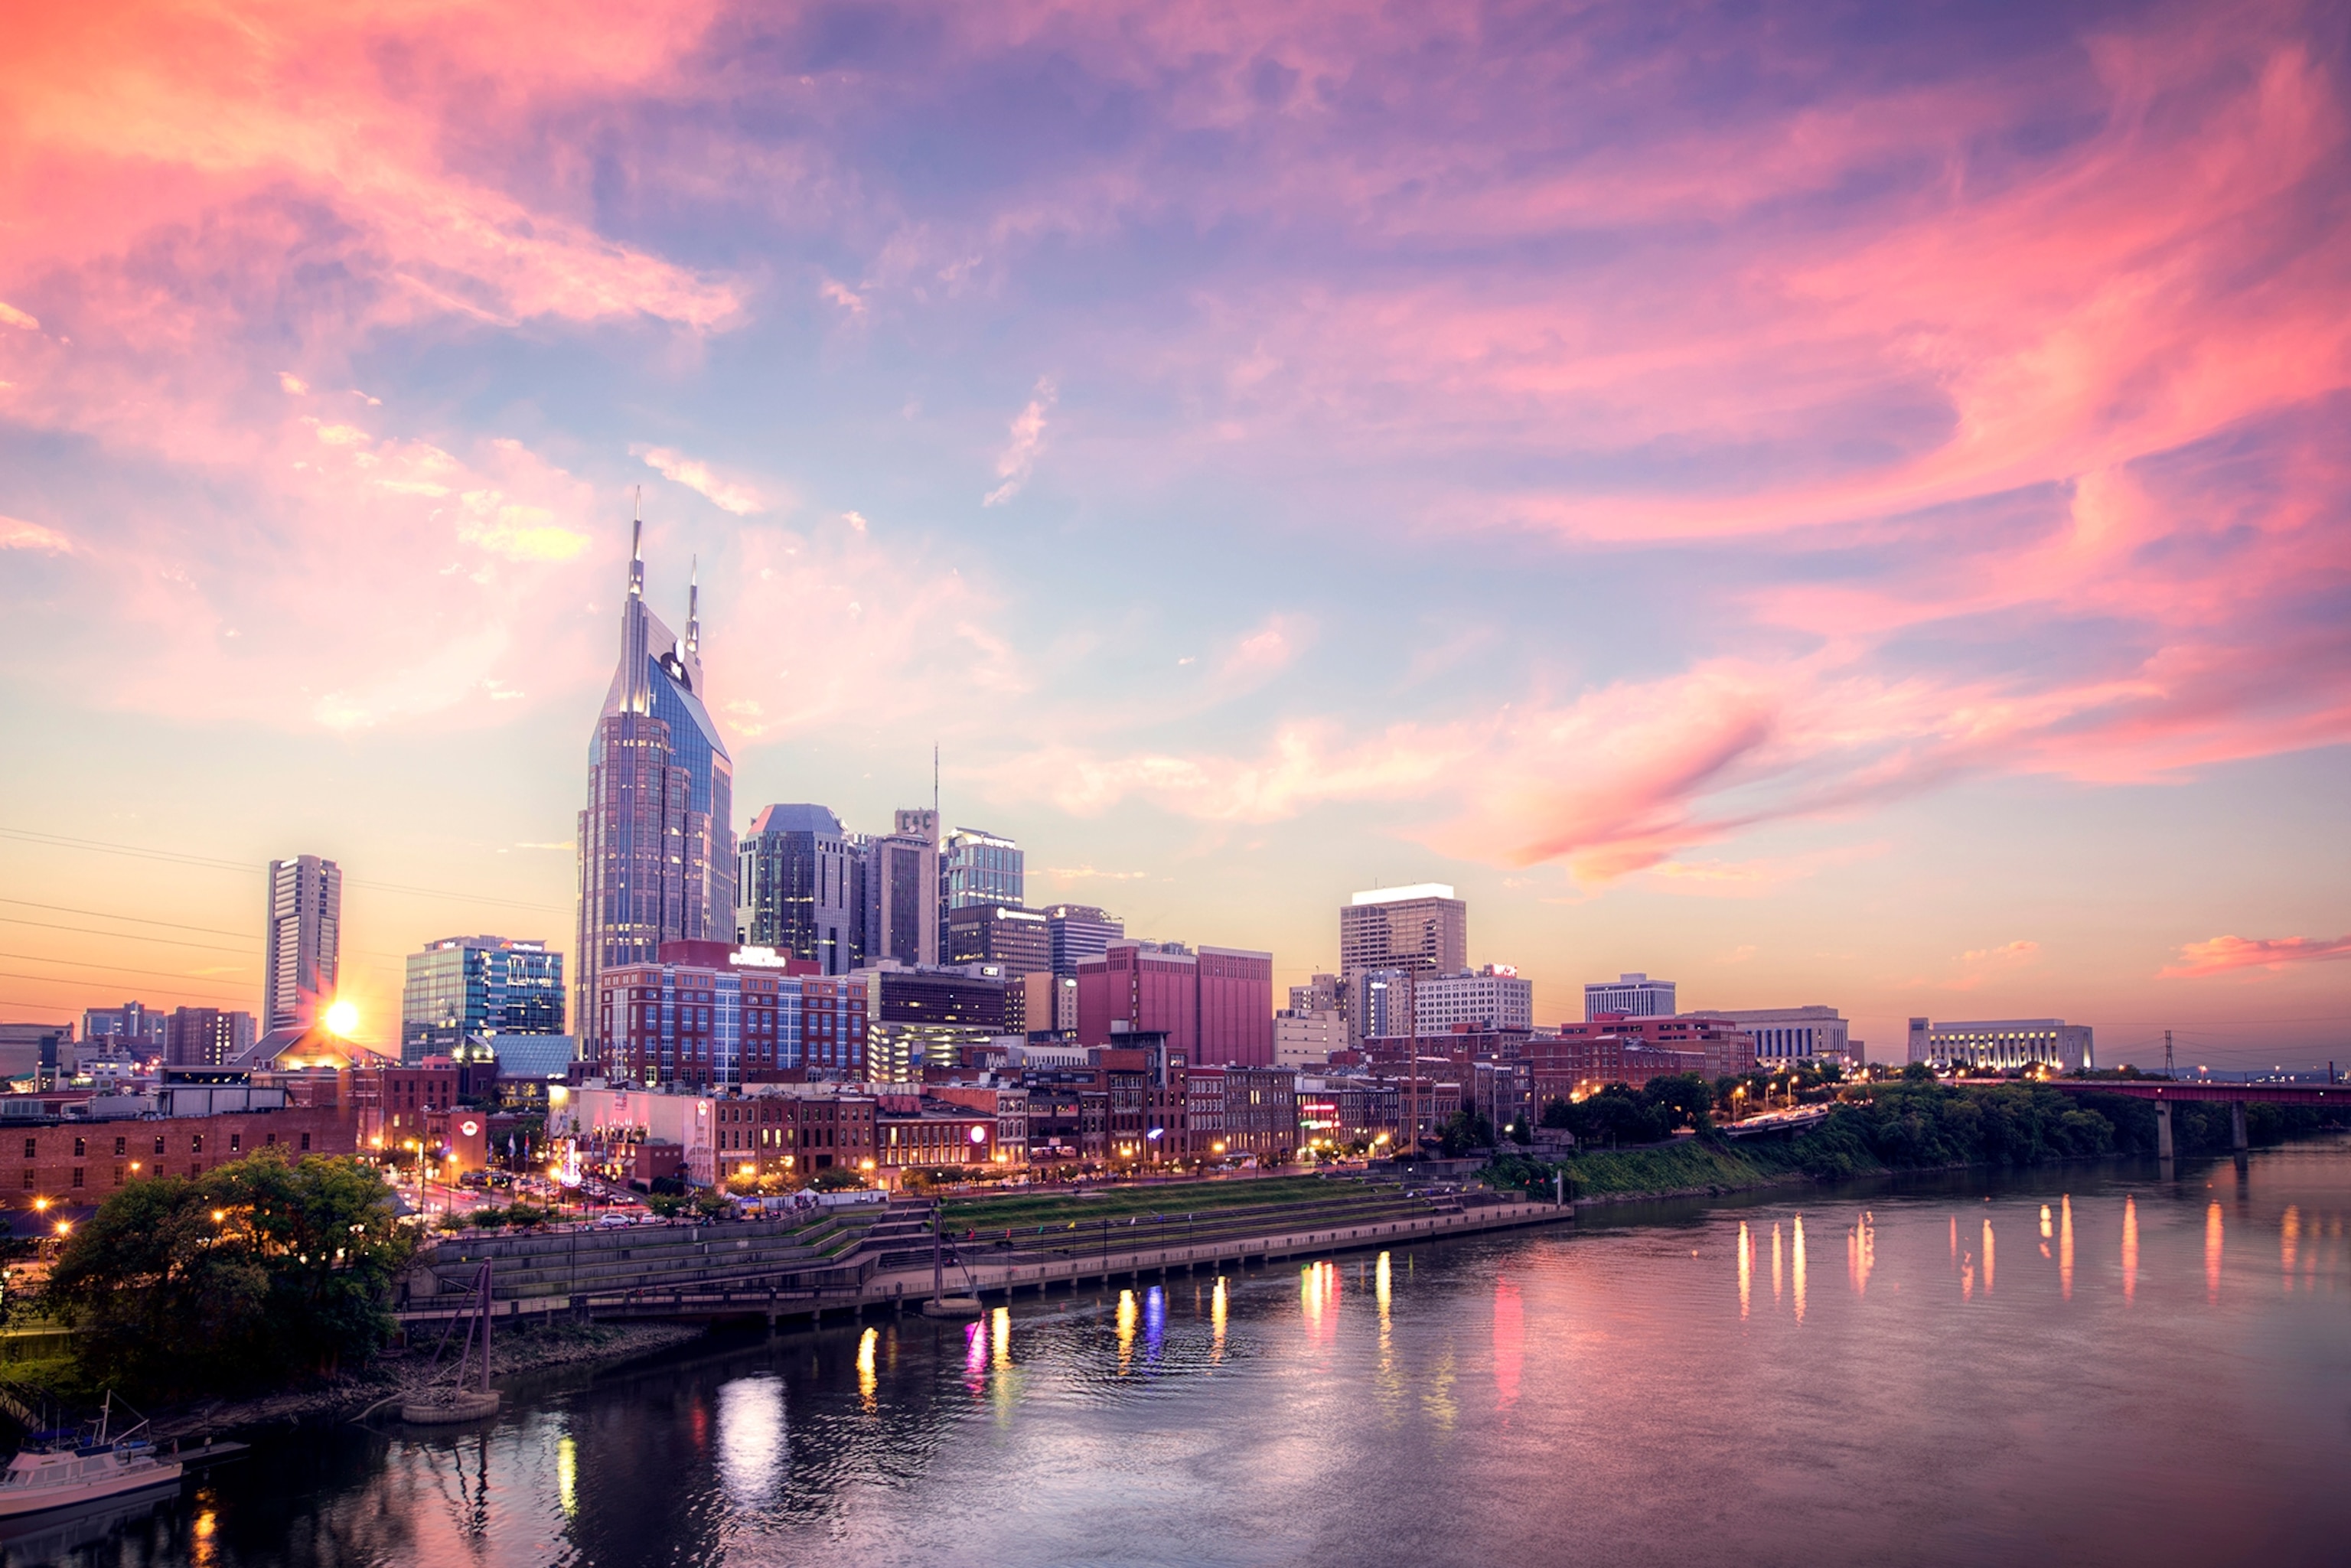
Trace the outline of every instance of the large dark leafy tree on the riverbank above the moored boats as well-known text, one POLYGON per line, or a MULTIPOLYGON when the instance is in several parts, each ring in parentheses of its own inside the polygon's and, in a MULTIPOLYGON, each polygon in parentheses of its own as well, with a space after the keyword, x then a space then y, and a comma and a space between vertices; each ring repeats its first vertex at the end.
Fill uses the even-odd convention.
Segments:
POLYGON ((374 1171, 263 1150, 115 1192, 66 1241, 47 1302, 94 1378, 150 1396, 245 1392, 379 1352, 409 1251, 374 1171))

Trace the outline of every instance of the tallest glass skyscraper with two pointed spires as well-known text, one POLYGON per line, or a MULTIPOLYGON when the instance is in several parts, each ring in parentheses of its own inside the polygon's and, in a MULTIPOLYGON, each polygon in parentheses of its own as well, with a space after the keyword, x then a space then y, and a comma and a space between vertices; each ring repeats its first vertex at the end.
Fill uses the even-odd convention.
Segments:
MULTIPOLYGON (((734 759, 703 705, 701 585, 679 639, 644 604, 644 522, 630 536, 621 665, 588 743, 578 820, 581 922, 574 1018, 600 1006, 600 976, 654 964, 675 940, 736 929, 734 759)), ((592 1030, 581 1030, 595 1039, 592 1030)))

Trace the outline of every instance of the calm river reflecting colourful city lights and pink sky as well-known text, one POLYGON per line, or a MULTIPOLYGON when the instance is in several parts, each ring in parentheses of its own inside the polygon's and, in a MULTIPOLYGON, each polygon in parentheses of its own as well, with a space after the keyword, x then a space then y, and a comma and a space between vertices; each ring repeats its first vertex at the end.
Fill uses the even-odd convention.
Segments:
POLYGON ((0 1561, 2346 1561, 2346 1220, 2342 1143, 1587 1211, 550 1375, 0 1561))

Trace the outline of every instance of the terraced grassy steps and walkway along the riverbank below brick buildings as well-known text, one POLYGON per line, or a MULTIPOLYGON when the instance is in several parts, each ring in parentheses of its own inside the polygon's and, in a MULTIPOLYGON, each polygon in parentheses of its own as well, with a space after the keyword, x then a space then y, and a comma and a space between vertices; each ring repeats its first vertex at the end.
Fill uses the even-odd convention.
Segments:
MULTIPOLYGON (((1105 1190, 1103 1197, 1161 1201, 1152 1213, 1089 1218, 1079 1194, 1011 1199, 1049 1208, 1030 1225, 959 1225, 992 1201, 950 1204, 940 1241, 952 1295, 1011 1300, 1164 1279, 1199 1269, 1262 1267, 1298 1255, 1406 1246, 1521 1225, 1552 1225, 1573 1208, 1493 1192, 1413 1192, 1396 1182, 1331 1182, 1326 1194, 1288 1201, 1227 1201, 1183 1208, 1199 1197, 1246 1197, 1241 1182, 1105 1190), (1056 1201, 1058 1199, 1058 1201, 1056 1201), (1067 1218, 1063 1218, 1067 1215, 1067 1218)), ((414 1331, 468 1309, 461 1298, 480 1265, 496 1265, 501 1321, 569 1319, 788 1319, 865 1316, 919 1307, 931 1298, 931 1206, 832 1211, 813 1225, 741 1220, 719 1225, 630 1225, 498 1237, 461 1237, 426 1255, 402 1281, 400 1319, 414 1331)))

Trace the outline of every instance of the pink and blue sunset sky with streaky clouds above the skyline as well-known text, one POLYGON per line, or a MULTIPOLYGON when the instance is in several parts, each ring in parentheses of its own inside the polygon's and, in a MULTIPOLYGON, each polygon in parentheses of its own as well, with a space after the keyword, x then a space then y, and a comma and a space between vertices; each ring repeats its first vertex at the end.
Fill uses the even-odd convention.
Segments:
POLYGON ((642 491, 738 827, 2351 1065, 2346 136, 2325 5, 33 7, 0 1018, 569 947, 642 491))

